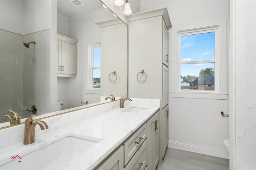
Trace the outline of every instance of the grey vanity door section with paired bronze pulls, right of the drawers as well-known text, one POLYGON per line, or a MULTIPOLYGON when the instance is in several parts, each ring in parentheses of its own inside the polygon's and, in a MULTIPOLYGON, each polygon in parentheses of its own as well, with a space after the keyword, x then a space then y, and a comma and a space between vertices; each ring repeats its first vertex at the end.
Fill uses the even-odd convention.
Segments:
POLYGON ((155 170, 159 161, 159 111, 147 122, 148 170, 155 170))

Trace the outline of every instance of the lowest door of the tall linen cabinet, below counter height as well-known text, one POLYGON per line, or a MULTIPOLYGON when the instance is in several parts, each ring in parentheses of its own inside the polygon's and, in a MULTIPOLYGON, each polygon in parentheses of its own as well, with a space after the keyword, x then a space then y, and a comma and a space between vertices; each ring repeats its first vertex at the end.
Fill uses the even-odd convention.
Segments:
POLYGON ((162 157, 164 157, 169 140, 169 108, 168 105, 162 111, 162 157))

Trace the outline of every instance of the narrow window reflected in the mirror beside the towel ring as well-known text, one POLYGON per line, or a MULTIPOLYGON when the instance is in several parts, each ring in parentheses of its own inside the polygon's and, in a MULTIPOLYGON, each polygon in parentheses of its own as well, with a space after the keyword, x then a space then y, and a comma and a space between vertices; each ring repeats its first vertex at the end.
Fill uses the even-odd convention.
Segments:
POLYGON ((90 89, 100 89, 100 43, 90 45, 90 89))

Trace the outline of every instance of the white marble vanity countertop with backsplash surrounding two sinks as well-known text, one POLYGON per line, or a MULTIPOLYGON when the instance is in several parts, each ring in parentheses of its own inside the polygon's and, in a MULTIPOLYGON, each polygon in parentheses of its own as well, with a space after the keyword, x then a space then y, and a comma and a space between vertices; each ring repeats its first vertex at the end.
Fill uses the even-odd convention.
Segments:
MULTIPOLYGON (((91 136, 92 138, 98 138, 99 143, 89 149, 88 152, 77 155, 74 160, 70 161, 70 164, 63 165, 67 169, 72 167, 90 170, 146 122, 159 109, 159 106, 160 101, 158 99, 132 98, 131 102, 124 104, 123 110, 120 108, 120 101, 115 101, 43 119, 49 128, 46 130, 36 128, 35 142, 30 145, 23 145, 24 125, 2 129, 0 130, 0 164, 5 164, 6 160, 14 154, 22 157, 24 154, 59 140, 65 135, 76 134, 78 137, 91 136), (123 112, 129 107, 146 107, 149 109, 138 114, 123 112), (12 136, 9 134, 12 134, 12 136)), ((19 164, 18 167, 20 167, 19 164)), ((2 169, 3 166, 0 168, 2 169)))

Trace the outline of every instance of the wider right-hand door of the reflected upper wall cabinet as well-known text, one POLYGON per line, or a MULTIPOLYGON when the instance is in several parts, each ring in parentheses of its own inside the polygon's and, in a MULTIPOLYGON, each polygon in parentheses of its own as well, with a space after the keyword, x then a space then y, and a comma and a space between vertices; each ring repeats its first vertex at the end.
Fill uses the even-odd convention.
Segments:
POLYGON ((62 74, 76 74, 76 45, 61 43, 62 74))

